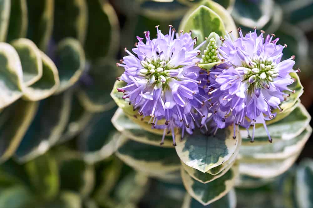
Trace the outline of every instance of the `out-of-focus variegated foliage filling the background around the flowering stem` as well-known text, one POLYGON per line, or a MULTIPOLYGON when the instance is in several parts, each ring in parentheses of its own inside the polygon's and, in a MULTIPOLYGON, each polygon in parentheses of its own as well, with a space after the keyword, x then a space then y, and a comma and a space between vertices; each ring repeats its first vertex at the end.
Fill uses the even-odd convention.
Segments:
MULTIPOLYGON (((148 178, 114 155, 122 135, 110 97, 124 48, 143 31, 154 37, 156 25, 178 29, 201 2, 0 0, 0 208, 203 207, 179 172, 148 178)), ((313 1, 215 2, 237 27, 288 45, 284 58, 295 55, 312 114, 313 1)), ((298 164, 275 179, 241 175, 236 193, 207 207, 312 207, 313 162, 302 160, 312 148, 309 139, 298 164)))

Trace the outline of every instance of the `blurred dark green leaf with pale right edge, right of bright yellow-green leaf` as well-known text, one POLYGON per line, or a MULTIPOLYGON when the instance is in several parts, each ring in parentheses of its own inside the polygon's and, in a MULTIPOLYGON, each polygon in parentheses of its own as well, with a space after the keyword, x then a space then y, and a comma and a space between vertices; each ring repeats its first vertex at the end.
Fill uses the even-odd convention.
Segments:
POLYGON ((80 159, 64 160, 59 165, 62 190, 80 193, 82 198, 89 196, 95 185, 95 169, 80 159))

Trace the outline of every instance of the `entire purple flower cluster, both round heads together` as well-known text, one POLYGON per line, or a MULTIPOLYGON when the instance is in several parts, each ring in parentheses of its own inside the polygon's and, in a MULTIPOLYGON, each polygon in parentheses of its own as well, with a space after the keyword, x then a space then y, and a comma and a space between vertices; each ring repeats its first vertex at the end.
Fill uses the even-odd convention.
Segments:
POLYGON ((239 30, 238 39, 229 34, 219 48, 211 38, 201 59, 198 49, 207 41, 194 47, 196 39, 190 33, 175 33, 171 25, 166 35, 158 26, 156 30, 157 38, 152 40, 149 31, 145 42, 137 36, 133 53, 125 49, 128 56, 118 65, 125 69, 121 80, 127 85, 118 91, 140 115, 151 117, 153 128, 164 129, 161 144, 172 131, 176 145, 176 127, 182 129, 182 137, 196 127, 215 134, 231 124, 234 138, 235 125, 254 129, 263 123, 267 131, 265 120, 275 117, 273 109, 280 109, 288 96, 285 90, 292 92, 288 85, 294 82, 289 73, 295 72, 295 62, 281 61, 285 46, 277 45, 279 38, 272 34, 264 40, 256 30, 243 36, 239 30), (223 63, 209 72, 198 67, 217 60, 223 63))

